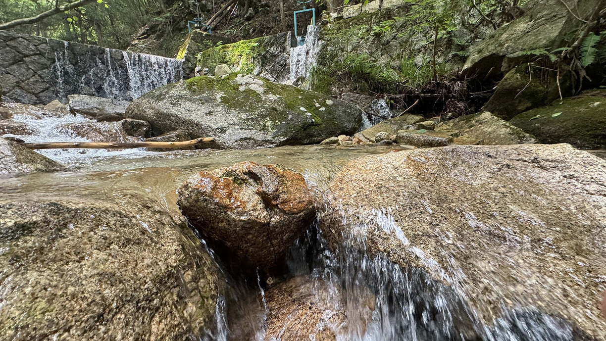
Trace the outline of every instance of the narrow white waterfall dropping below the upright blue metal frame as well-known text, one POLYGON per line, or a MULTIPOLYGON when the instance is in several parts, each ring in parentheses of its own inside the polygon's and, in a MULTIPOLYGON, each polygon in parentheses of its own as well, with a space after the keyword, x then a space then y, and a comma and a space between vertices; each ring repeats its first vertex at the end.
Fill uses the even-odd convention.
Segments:
MULTIPOLYGON (((297 37, 297 42, 301 37, 297 37)), ((322 47, 322 41, 318 40, 318 27, 307 26, 305 43, 290 49, 290 81, 295 84, 301 78, 307 78, 318 61, 318 53, 322 47)))

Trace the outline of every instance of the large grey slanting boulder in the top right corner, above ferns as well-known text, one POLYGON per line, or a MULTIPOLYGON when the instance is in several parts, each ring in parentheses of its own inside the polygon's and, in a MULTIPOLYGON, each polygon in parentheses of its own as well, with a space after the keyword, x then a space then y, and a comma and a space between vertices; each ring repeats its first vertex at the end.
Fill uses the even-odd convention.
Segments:
POLYGON ((471 49, 462 69, 464 76, 501 78, 512 68, 536 57, 530 51, 551 51, 569 44, 570 32, 579 30, 591 13, 604 5, 600 0, 574 2, 573 12, 560 0, 533 0, 524 6, 520 18, 499 27, 471 49))

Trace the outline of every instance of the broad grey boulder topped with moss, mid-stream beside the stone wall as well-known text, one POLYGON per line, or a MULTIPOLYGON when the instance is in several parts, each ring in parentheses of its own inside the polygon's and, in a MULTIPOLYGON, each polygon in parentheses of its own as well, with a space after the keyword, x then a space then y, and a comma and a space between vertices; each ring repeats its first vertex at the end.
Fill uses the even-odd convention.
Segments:
POLYGON ((235 149, 318 143, 353 134, 362 122, 348 102, 235 73, 157 88, 133 101, 126 116, 150 122, 155 135, 181 130, 235 149))

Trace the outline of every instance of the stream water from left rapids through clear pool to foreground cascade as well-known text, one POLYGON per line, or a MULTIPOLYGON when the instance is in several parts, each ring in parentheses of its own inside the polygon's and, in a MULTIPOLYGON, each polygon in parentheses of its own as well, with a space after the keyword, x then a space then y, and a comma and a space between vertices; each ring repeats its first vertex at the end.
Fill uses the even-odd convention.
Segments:
MULTIPOLYGON (((82 141, 82 136, 62 127, 90 124, 101 131, 113 131, 117 125, 115 122, 95 122, 84 116, 32 117, 30 113, 13 118, 28 122, 35 130, 33 135, 21 136, 28 141, 82 141)), ((144 150, 48 150, 42 153, 69 168, 53 173, 5 176, 0 181, 0 196, 10 199, 73 195, 98 200, 145 197, 161 203, 172 215, 179 216, 176 188, 192 173, 254 161, 282 164, 304 174, 322 207, 327 200, 323 193, 328 182, 344 164, 356 157, 395 149, 311 145, 161 153, 144 150)), ((594 153, 606 156, 604 151, 594 153)), ((388 214, 376 212, 375 219, 384 229, 393 229, 388 214)), ((405 245, 403 234, 401 239, 405 245)), ((309 276, 322 283, 311 287, 317 287, 318 292, 313 294, 323 297, 330 306, 325 311, 328 317, 338 311, 347 316, 344 324, 331 324, 327 318, 322 326, 318 326, 331 329, 339 341, 575 339, 569 325, 532 307, 504 311, 499 319, 487 325, 478 318, 468 305, 467 297, 456 286, 445 286, 423 271, 404 270, 381 254, 368 256, 364 245, 364 238, 354 231, 345 236, 341 247, 333 250, 314 225, 295 242, 288 258, 290 276, 309 276)), ((422 256, 422 251, 418 251, 422 256)), ((444 276, 458 274, 455 269, 444 276)), ((263 340, 268 323, 265 283, 246 285, 231 279, 230 287, 229 297, 218 301, 215 329, 208 331, 205 339, 236 340, 244 330, 246 334, 254 335, 253 339, 263 340)))

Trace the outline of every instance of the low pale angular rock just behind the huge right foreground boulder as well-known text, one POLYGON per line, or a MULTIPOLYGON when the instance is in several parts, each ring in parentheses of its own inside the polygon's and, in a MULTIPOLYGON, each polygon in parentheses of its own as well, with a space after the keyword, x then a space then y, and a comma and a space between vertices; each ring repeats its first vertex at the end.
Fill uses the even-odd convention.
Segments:
MULTIPOLYGON (((508 145, 537 142, 530 134, 487 111, 442 122, 438 124, 436 130, 459 130, 469 136, 465 142, 474 142, 468 144, 508 145)), ((458 140, 454 139, 454 143, 458 143, 458 140)))

